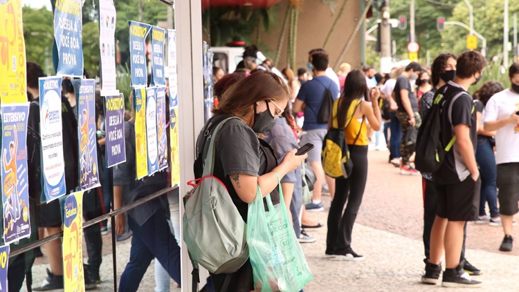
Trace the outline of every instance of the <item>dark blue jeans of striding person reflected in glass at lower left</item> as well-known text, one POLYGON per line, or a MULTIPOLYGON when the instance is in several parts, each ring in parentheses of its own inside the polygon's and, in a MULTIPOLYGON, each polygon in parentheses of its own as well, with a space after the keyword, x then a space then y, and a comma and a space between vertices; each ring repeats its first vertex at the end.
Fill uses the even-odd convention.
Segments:
POLYGON ((143 226, 131 217, 128 225, 131 237, 130 260, 120 277, 119 292, 137 291, 140 281, 154 258, 165 267, 173 280, 181 285, 181 251, 163 212, 155 212, 143 226))

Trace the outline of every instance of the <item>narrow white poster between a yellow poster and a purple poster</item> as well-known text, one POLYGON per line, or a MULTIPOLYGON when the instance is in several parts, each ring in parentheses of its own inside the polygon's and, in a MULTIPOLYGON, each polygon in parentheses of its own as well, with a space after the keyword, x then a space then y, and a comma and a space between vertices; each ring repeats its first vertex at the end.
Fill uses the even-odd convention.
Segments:
POLYGON ((146 135, 148 146, 148 175, 158 171, 157 153, 157 101, 156 87, 147 88, 146 95, 146 135))

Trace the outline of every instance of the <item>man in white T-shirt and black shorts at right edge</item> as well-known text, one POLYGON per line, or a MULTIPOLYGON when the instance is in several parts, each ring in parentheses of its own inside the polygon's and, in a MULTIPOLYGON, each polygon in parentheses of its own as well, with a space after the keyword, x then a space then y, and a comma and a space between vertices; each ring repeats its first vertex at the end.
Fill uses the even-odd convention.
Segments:
POLYGON ((484 130, 495 133, 498 164, 496 180, 504 239, 500 251, 511 251, 513 215, 519 213, 519 62, 510 66, 511 88, 486 103, 484 130))

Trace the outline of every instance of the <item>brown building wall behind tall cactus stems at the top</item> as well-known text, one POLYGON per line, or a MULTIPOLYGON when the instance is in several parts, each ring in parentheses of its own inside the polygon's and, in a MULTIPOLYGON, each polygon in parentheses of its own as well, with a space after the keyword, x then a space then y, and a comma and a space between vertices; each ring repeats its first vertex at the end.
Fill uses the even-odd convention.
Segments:
MULTIPOLYGON (((300 0, 303 1, 303 0, 300 0)), ((335 14, 331 12, 329 6, 322 3, 322 0, 304 0, 302 9, 299 12, 298 30, 297 30, 297 47, 296 50, 296 68, 306 68, 308 61, 308 52, 313 48, 322 48, 325 39, 331 29, 331 26, 336 19, 340 6, 343 1, 347 1, 345 10, 334 31, 331 34, 330 40, 325 47, 325 50, 330 56, 330 66, 334 67, 340 52, 346 45, 350 35, 352 34, 358 19, 361 15, 361 1, 362 0, 335 0, 335 14)), ((271 28, 268 32, 260 34, 261 43, 269 45, 268 51, 275 52, 280 40, 282 25, 286 9, 289 6, 289 1, 283 1, 279 4, 282 9, 275 16, 276 26, 271 28)), ((361 68, 361 30, 354 37, 352 45, 346 52, 345 57, 341 60, 352 65, 352 68, 361 68)), ((260 48, 262 50, 262 48, 260 48)), ((276 65, 277 68, 285 68, 288 59, 288 29, 282 44, 282 51, 280 59, 276 65)), ((268 56, 272 59, 275 55, 268 56)), ((336 69, 336 68, 334 68, 336 69)))

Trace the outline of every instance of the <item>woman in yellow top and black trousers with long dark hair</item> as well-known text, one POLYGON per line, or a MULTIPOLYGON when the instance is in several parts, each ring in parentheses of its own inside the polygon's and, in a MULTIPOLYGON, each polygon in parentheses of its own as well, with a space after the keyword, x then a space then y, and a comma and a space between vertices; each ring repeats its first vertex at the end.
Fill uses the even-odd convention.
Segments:
POLYGON ((360 70, 349 72, 345 80, 343 94, 336 100, 338 113, 331 116, 344 127, 349 155, 354 164, 352 174, 336 179, 336 191, 328 215, 326 257, 336 260, 363 260, 352 249, 352 231, 367 179, 367 123, 373 130, 381 128, 381 113, 377 100, 379 88, 368 91, 365 75, 360 70), (370 99, 370 102, 367 100, 370 99), (366 121, 367 119, 367 121, 366 121), (344 205, 347 203, 343 213, 344 205))

